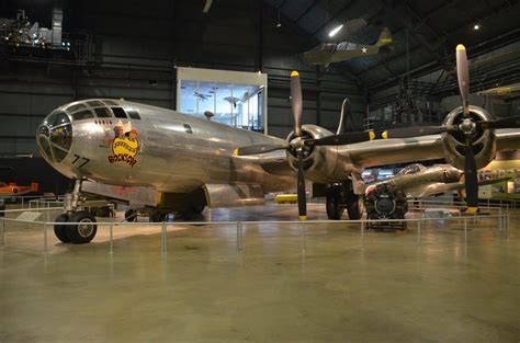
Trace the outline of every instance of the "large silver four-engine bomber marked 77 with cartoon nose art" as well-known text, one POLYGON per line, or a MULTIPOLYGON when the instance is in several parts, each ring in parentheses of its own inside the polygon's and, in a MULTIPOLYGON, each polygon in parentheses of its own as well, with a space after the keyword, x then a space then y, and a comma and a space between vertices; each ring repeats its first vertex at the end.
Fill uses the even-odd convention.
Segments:
POLYGON ((296 71, 291 73, 294 129, 286 139, 124 100, 60 106, 36 133, 46 161, 75 180, 65 211, 56 218, 75 224, 56 225, 55 233, 63 242, 87 243, 94 238, 95 218, 82 210, 83 181, 93 185, 90 193, 127 196, 131 205, 138 195, 156 206, 150 218, 162 221, 172 211, 260 205, 264 193, 294 187, 298 215, 305 220, 305 180, 309 180, 324 185, 327 199, 347 208, 351 219, 359 219, 364 168, 440 158, 464 170, 467 204, 476 210, 476 170, 496 151, 519 147, 520 130, 511 128, 520 127, 520 118, 495 121, 484 108, 468 105, 466 54, 463 46, 456 52, 463 106, 449 113, 441 126, 334 134, 303 125, 296 71))

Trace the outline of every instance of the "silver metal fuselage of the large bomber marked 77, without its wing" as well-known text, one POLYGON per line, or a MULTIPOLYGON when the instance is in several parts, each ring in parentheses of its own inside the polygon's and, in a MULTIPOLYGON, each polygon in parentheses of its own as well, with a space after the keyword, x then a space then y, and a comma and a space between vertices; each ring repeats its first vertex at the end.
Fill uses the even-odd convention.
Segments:
MULTIPOLYGON (((114 139, 111 135, 118 118, 77 121, 74 113, 68 113, 67 108, 80 103, 94 113, 88 101, 57 108, 65 111, 71 122, 71 145, 59 162, 41 148, 47 162, 70 179, 149 186, 161 192, 191 192, 205 183, 261 184, 265 192, 290 190, 295 185, 294 172, 289 164, 271 174, 262 169, 257 159, 233 156, 237 147, 280 144, 284 142, 282 139, 171 110, 127 101, 115 102, 125 110, 137 111, 140 116, 140 119, 122 119, 122 124, 131 122, 137 133, 135 163, 114 161, 113 158, 111 161, 114 142, 110 140, 114 139)), ((280 156, 284 158, 284 155, 280 156)))

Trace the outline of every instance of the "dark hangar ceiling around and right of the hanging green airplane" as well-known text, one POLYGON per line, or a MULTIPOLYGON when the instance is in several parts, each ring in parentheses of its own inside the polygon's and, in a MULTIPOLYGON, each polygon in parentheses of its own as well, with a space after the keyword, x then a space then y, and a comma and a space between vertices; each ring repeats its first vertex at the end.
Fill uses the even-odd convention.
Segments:
MULTIPOLYGON (((392 52, 335 65, 359 78, 372 91, 382 90, 410 75, 420 76, 439 68, 454 68, 459 43, 475 57, 518 41, 518 0, 264 0, 282 26, 295 26, 325 42, 328 32, 349 20, 364 19, 368 26, 348 39, 374 43, 382 27, 394 35, 392 52), (474 30, 478 24, 479 30, 474 30), (409 67, 406 42, 408 36, 409 67)), ((518 58, 518 54, 517 54, 518 58)))

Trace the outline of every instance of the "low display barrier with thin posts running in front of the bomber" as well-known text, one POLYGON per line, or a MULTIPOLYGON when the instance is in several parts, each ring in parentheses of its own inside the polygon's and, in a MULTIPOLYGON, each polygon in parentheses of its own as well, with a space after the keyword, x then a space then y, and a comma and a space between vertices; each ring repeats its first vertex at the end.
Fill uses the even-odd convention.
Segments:
MULTIPOLYGON (((53 208, 49 206, 43 208, 33 208, 29 211, 41 211, 45 213, 45 220, 25 220, 25 219, 14 219, 14 218, 7 218, 0 217, 1 220, 1 245, 5 245, 5 224, 7 222, 20 222, 26 225, 38 225, 43 228, 43 252, 45 255, 48 254, 48 229, 54 228, 54 225, 84 225, 84 222, 55 222, 49 220, 50 211, 56 210, 57 208, 53 208)), ((26 209, 8 209, 3 213, 5 215, 16 214, 27 211, 26 209)), ((301 229, 301 239, 302 239, 302 250, 305 251, 307 248, 307 230, 309 226, 315 225, 342 225, 352 226, 359 225, 359 232, 361 237, 361 249, 364 249, 365 245, 365 228, 368 225, 374 225, 380 222, 406 222, 407 225, 412 224, 417 228, 417 245, 421 244, 421 231, 429 221, 438 221, 440 219, 444 221, 457 221, 459 224, 463 225, 464 229, 464 243, 467 243, 467 224, 468 221, 475 221, 478 219, 496 219, 497 225, 500 231, 505 232, 505 237, 509 240, 509 210, 504 210, 501 207, 497 208, 496 214, 487 214, 484 216, 452 216, 452 217, 436 217, 436 218, 427 218, 425 216, 420 216, 419 218, 407 218, 407 219, 361 219, 361 220, 273 220, 273 221, 176 221, 176 222, 146 222, 147 226, 157 227, 157 233, 160 235, 160 251, 161 253, 166 254, 168 252, 168 227, 176 227, 176 226, 227 226, 233 227, 236 229, 236 249, 238 252, 244 250, 244 230, 248 226, 259 226, 259 225, 287 225, 292 227, 298 227, 301 229)), ((113 253, 113 244, 114 244, 114 228, 118 227, 133 227, 133 226, 143 226, 145 222, 126 222, 126 221, 115 221, 115 219, 111 219, 110 221, 98 221, 95 222, 98 227, 109 227, 109 253, 113 253)))

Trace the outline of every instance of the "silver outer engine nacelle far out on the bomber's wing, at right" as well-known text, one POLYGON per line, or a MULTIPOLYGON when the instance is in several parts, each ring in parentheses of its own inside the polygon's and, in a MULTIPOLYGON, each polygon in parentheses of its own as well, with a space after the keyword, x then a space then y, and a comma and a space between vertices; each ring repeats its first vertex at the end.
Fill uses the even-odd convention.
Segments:
MULTIPOLYGON (((471 116, 475 122, 493 121, 494 117, 484 108, 470 106, 471 116)), ((459 125, 464 119, 464 113, 461 107, 450 112, 443 125, 459 125)), ((442 134, 442 149, 448 163, 456 169, 464 170, 464 141, 463 133, 442 134)), ((475 155, 476 168, 486 167, 497 152, 497 139, 494 129, 477 129, 473 138, 473 152, 475 155)))

